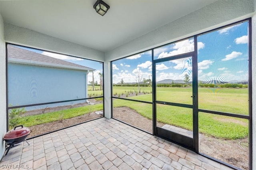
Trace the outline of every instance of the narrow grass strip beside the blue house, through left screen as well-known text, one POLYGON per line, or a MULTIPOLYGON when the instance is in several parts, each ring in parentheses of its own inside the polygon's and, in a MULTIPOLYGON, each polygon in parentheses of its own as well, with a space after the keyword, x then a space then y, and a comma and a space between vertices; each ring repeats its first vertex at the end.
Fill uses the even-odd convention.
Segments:
POLYGON ((26 127, 39 125, 42 123, 49 123, 58 121, 60 119, 69 119, 72 117, 84 115, 93 111, 98 111, 103 109, 103 104, 89 105, 83 107, 76 107, 71 109, 64 109, 60 111, 54 111, 39 115, 29 115, 20 118, 18 124, 24 125, 26 127), (63 117, 62 117, 63 115, 63 117))

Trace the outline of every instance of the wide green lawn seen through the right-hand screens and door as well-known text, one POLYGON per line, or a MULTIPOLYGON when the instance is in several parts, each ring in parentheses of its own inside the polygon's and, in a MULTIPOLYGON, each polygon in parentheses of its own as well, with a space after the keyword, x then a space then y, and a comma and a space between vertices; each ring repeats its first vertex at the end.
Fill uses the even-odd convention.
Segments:
MULTIPOLYGON (((120 91, 120 87, 113 91, 120 91)), ((124 87, 121 87, 124 88, 124 87)), ((131 87, 125 87, 126 91, 131 87)), ((146 90, 151 90, 148 88, 146 90)), ((248 89, 199 88, 199 108, 248 115, 248 89)), ((192 104, 191 88, 157 88, 157 100, 192 104)), ((129 97, 134 100, 152 101, 152 94, 129 97)), ((130 107, 142 116, 152 119, 152 105, 126 100, 114 100, 113 107, 130 107)), ((192 131, 192 109, 157 105, 157 120, 192 131)), ((219 139, 248 137, 248 120, 209 113, 199 113, 199 131, 219 139), (225 121, 224 121, 225 120, 225 121)))

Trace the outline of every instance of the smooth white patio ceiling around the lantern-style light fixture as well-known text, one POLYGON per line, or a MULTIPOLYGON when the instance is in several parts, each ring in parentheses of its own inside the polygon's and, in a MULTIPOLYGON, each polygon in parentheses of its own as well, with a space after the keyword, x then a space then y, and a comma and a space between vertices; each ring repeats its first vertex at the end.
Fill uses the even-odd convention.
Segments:
POLYGON ((104 0, 110 10, 100 16, 96 0, 6 0, 0 14, 8 23, 107 52, 214 1, 104 0))

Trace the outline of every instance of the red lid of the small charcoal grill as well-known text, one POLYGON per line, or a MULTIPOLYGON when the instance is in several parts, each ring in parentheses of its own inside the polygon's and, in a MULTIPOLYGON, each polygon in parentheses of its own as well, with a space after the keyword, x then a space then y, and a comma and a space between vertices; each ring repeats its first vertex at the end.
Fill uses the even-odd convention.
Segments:
POLYGON ((25 135, 28 135, 29 133, 30 133, 30 129, 28 127, 23 127, 23 125, 19 125, 14 127, 14 129, 8 131, 4 135, 4 140, 20 138, 25 135))

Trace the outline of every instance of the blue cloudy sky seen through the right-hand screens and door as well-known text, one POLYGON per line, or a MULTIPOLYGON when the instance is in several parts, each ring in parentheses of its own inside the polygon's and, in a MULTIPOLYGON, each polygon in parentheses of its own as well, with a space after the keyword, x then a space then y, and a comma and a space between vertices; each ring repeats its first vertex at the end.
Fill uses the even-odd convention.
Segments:
MULTIPOLYGON (((154 59, 194 51, 194 39, 154 49, 154 59)), ((151 51, 112 63, 113 82, 136 82, 140 70, 143 78, 152 75, 151 51)), ((192 59, 178 59, 156 64, 156 81, 164 79, 192 80, 192 59)), ((198 37, 198 80, 239 82, 248 80, 248 22, 226 27, 198 37)))

